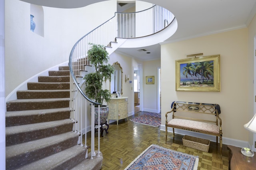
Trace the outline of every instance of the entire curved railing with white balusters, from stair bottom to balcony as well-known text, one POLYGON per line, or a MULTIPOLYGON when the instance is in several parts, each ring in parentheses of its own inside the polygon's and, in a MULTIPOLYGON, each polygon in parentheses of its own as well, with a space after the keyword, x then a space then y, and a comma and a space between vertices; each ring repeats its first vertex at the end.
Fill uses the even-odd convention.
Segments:
MULTIPOLYGON (((75 129, 82 136, 86 132, 82 132, 82 129, 87 127, 87 102, 91 104, 99 105, 93 99, 89 99, 82 85, 84 84, 82 77, 85 74, 94 71, 89 67, 90 61, 88 61, 87 51, 90 49, 90 44, 100 44, 110 46, 110 42, 115 42, 116 38, 139 38, 149 36, 160 32, 167 26, 169 26, 174 20, 174 15, 160 6, 153 6, 147 10, 133 13, 115 13, 115 16, 110 20, 104 22, 82 38, 78 40, 73 46, 69 56, 69 68, 70 68, 70 108, 71 118, 74 119, 75 129), (79 78, 80 77, 80 78, 79 78), (84 115, 85 114, 85 115, 84 115), (85 123, 85 125, 83 124, 85 123)), ((92 156, 94 152, 94 105, 92 105, 91 117, 91 134, 92 134, 92 156)), ((98 125, 100 125, 100 117, 98 118, 98 125)), ((98 151, 100 151, 100 133, 98 133, 98 151)), ((86 135, 85 140, 86 141, 86 135)), ((78 143, 82 144, 82 138, 80 137, 78 143)), ((86 143, 85 143, 86 145, 86 143)), ((98 152, 99 153, 99 152, 98 152)))

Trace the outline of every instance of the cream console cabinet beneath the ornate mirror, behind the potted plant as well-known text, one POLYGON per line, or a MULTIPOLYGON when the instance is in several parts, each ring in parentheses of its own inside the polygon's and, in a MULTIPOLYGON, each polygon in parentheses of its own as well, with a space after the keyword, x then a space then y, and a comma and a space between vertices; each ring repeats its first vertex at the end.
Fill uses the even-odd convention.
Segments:
POLYGON ((128 97, 110 99, 110 102, 108 102, 108 108, 108 119, 116 120, 118 125, 118 120, 128 117, 128 97))

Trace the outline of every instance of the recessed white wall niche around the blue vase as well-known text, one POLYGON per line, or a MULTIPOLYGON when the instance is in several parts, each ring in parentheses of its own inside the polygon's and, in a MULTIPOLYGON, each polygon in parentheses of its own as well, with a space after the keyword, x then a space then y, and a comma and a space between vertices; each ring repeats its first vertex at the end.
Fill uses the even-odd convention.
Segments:
MULTIPOLYGON (((33 21, 36 25, 34 33, 44 37, 44 9, 42 6, 30 4, 30 15, 34 16, 33 21)), ((29 16, 30 17, 30 16, 29 16)), ((30 28, 30 27, 29 27, 30 28)))

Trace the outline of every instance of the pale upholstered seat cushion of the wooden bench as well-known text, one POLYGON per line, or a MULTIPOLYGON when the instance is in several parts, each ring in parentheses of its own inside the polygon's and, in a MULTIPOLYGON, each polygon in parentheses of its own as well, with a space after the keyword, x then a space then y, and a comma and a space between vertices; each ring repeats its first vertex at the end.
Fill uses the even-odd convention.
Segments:
POLYGON ((186 119, 172 119, 167 123, 168 127, 173 128, 185 128, 190 130, 203 131, 210 134, 216 134, 217 136, 220 133, 220 128, 217 125, 206 122, 191 121, 186 119))

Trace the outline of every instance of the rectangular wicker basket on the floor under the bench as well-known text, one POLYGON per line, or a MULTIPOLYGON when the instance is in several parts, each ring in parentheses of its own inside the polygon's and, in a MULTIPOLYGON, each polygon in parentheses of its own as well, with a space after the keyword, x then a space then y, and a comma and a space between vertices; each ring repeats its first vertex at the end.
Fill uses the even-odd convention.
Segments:
POLYGON ((193 136, 185 135, 182 138, 182 142, 184 146, 188 146, 190 148, 202 150, 204 152, 208 152, 209 146, 210 146, 210 140, 202 139, 202 138, 196 138, 193 136))

